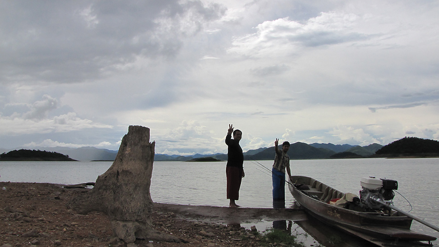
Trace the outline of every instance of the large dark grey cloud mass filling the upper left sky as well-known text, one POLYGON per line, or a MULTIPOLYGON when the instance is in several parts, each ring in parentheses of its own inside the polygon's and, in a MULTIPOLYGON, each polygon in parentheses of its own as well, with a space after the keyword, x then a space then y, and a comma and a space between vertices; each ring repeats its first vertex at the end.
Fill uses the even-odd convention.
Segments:
POLYGON ((225 8, 201 1, 2 2, 0 84, 91 82, 138 56, 175 57, 225 8), (7 49, 5 49, 7 48, 7 49))

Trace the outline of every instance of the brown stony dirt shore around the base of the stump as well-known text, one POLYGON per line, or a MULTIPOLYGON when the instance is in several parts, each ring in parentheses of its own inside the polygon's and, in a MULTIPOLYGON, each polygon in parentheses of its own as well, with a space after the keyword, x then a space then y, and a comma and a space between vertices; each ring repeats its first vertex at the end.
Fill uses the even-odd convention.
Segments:
MULTIPOLYGON (((66 203, 87 189, 62 185, 0 182, 0 247, 122 247, 114 237, 107 216, 77 214, 66 203)), ((186 243, 136 240, 139 247, 236 247, 260 246, 256 229, 215 223, 193 215, 185 217, 166 205, 154 207, 153 225, 186 243)), ((133 245, 134 246, 134 245, 133 245)))

